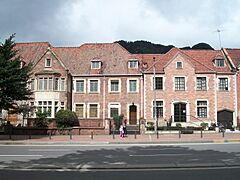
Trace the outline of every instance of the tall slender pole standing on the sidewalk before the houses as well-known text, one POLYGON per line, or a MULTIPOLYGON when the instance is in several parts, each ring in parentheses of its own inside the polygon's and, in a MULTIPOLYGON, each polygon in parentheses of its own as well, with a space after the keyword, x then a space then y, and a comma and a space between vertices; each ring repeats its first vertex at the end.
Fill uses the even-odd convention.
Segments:
POLYGON ((158 136, 158 119, 157 119, 157 102, 156 102, 156 58, 153 57, 153 94, 154 94, 154 121, 155 121, 155 132, 158 136))

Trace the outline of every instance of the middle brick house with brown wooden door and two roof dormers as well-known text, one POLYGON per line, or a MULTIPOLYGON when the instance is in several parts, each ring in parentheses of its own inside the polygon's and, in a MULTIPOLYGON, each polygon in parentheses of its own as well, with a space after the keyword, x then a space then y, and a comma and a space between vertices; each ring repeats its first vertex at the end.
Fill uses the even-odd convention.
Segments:
POLYGON ((143 114, 141 62, 117 43, 53 48, 72 75, 72 110, 80 126, 109 127, 114 115, 136 125, 143 114))

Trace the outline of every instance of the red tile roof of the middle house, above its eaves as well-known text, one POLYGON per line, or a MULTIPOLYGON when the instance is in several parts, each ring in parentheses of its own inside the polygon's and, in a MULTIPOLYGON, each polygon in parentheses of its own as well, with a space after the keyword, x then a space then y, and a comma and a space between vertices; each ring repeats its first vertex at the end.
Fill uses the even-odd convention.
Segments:
POLYGON ((130 74, 127 62, 130 53, 118 43, 83 44, 75 48, 54 47, 52 50, 61 58, 73 75, 130 74), (91 61, 102 62, 101 72, 91 70, 91 61))

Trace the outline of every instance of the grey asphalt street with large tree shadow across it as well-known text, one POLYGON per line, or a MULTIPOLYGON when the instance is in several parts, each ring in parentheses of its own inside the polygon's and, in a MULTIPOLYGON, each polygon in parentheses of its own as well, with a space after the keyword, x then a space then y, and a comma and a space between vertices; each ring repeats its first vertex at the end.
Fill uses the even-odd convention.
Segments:
POLYGON ((234 179, 240 144, 0 145, 0 179, 234 179))

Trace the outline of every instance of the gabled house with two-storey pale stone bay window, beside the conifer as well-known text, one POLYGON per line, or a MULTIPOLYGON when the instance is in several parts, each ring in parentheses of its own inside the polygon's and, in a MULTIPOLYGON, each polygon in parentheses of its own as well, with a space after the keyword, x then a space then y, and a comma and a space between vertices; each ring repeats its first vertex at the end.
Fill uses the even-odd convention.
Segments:
MULTIPOLYGON (((71 76, 49 43, 17 43, 23 65, 32 63, 29 88, 32 100, 28 103, 54 118, 59 109, 71 108, 71 76)), ((30 117, 35 117, 32 114, 30 117)))

